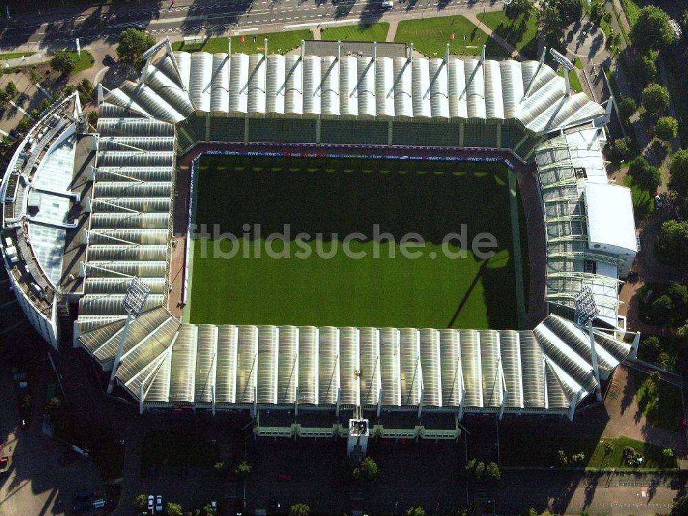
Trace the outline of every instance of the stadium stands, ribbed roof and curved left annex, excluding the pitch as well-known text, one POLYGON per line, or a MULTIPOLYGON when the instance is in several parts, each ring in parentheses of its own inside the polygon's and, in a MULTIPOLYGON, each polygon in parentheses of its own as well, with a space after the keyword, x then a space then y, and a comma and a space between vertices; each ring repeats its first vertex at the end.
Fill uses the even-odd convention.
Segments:
MULTIPOLYGON (((173 213, 177 157, 196 142, 499 149, 537 165, 546 301, 570 309, 590 286, 603 308, 597 322, 617 329, 619 275, 636 251, 630 191, 606 180, 605 110, 568 94, 548 65, 376 57, 374 47, 362 57, 187 54, 167 41, 149 55, 138 83, 98 88, 97 134, 85 130, 74 94, 39 120, 3 178, 4 263, 46 341, 69 338, 78 301, 74 344, 111 369, 122 300, 140 277, 151 294, 129 327, 116 380, 142 410, 572 418, 599 389, 588 333, 555 314, 533 330, 258 327, 182 324, 168 305, 173 217, 186 216, 173 213), (50 174, 59 191, 41 186, 56 184, 50 174), (613 231, 605 193, 592 193, 605 185, 617 189, 613 231), (52 197, 66 199, 64 209, 52 213, 52 197), (45 228, 63 239, 48 244, 45 228)), ((596 330, 594 341, 605 379, 638 338, 629 345, 596 330)))

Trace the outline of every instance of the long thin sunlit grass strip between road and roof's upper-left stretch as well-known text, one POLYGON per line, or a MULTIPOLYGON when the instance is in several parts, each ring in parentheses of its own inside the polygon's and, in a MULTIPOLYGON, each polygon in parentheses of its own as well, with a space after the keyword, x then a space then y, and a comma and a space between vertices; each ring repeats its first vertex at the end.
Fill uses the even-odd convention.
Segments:
MULTIPOLYGON (((268 53, 286 54, 290 50, 301 45, 301 40, 313 39, 310 30, 287 30, 283 32, 267 32, 266 34, 244 34, 244 42, 241 36, 232 36, 233 54, 257 54, 263 52, 264 40, 268 39, 268 53), (255 36, 255 43, 253 38, 255 36)), ((208 52, 208 54, 226 53, 228 50, 228 38, 209 38, 203 43, 184 43, 175 41, 172 43, 174 50, 184 52, 208 52)))

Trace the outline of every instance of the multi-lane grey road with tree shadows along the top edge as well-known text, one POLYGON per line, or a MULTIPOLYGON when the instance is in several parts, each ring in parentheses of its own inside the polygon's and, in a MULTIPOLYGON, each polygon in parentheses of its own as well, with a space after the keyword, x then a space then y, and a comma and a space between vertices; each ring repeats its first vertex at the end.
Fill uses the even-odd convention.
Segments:
POLYGON ((250 2, 200 3, 162 8, 127 10, 127 7, 91 9, 83 14, 69 10, 55 14, 21 15, 0 25, 0 47, 20 45, 64 46, 79 38, 82 45, 115 39, 122 30, 144 25, 153 36, 210 34, 213 36, 257 32, 259 30, 296 30, 338 23, 374 23, 400 18, 421 18, 438 14, 460 14, 495 10, 498 0, 396 0, 391 8, 381 0, 258 0, 250 2))

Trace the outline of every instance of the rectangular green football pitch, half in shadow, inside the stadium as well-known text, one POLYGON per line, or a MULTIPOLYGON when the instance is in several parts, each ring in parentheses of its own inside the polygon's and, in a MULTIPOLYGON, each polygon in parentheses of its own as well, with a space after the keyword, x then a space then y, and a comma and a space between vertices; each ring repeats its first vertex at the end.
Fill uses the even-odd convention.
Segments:
POLYGON ((184 321, 517 327, 519 224, 503 164, 206 155, 197 165, 184 321), (493 256, 473 252, 479 233, 493 235, 482 248, 493 256))

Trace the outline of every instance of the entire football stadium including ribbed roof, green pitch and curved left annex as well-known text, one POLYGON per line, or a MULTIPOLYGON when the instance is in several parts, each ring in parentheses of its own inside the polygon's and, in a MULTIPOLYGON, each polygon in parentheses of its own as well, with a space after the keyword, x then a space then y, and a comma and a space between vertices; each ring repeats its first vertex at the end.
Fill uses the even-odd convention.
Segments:
POLYGON ((50 107, 2 183, 3 260, 32 325, 83 347, 141 411, 245 409, 257 435, 344 436, 345 416, 377 420, 371 436, 426 438, 454 438, 465 413, 573 418, 638 346, 619 316, 638 246, 630 191, 602 155, 612 103, 572 94, 544 54, 402 46, 248 56, 165 40, 138 83, 98 88, 96 133, 78 93, 50 107), (219 219, 238 235, 268 220, 360 232, 380 217, 395 237, 474 217, 500 244, 459 269, 200 257, 199 228, 219 219), (134 279, 145 292, 127 316, 134 279), (586 289, 590 334, 574 312, 586 289))

